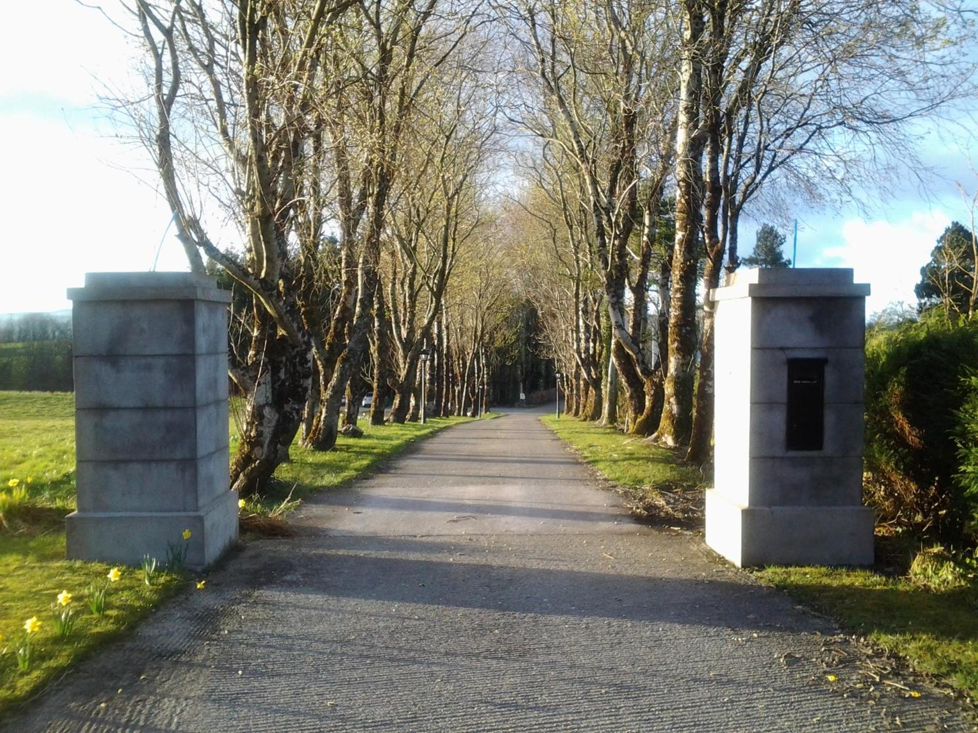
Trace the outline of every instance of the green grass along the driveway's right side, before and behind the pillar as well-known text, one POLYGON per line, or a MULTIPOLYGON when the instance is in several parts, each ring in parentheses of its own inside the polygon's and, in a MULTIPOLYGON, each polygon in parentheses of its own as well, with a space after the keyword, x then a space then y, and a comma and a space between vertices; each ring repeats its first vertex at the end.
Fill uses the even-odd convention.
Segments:
MULTIPOLYGON (((650 492, 659 482, 674 486, 689 476, 691 468, 675 457, 670 460, 665 449, 612 428, 573 417, 556 420, 554 415, 541 421, 601 476, 626 489, 650 492)), ((974 588, 938 592, 909 577, 871 569, 771 566, 747 572, 832 617, 872 646, 950 685, 972 704, 978 700, 978 592, 974 588)), ((869 677, 850 680, 869 681, 869 677)))

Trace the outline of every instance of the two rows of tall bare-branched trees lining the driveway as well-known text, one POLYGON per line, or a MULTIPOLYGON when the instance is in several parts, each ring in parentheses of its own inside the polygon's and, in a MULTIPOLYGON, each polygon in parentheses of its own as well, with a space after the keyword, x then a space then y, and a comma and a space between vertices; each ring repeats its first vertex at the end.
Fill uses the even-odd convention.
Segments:
MULTIPOLYGON (((502 373, 560 372, 572 414, 706 459, 699 293, 741 264, 742 215, 885 185, 918 163, 914 125, 975 93, 973 29, 943 0, 125 7, 146 88, 114 102, 191 267, 238 291, 244 493, 296 435, 332 449, 344 397, 372 389, 378 423, 470 414, 502 373)), ((941 267, 970 313, 959 239, 941 267)), ((783 240, 762 227, 744 263, 789 266, 783 240)))

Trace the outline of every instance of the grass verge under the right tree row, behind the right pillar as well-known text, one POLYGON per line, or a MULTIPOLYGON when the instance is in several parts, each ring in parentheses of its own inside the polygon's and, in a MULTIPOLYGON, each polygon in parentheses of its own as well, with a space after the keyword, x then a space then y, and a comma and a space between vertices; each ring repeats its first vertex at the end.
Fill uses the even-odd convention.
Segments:
POLYGON ((633 513, 686 526, 702 524, 703 474, 676 453, 575 417, 540 419, 615 484, 633 513))

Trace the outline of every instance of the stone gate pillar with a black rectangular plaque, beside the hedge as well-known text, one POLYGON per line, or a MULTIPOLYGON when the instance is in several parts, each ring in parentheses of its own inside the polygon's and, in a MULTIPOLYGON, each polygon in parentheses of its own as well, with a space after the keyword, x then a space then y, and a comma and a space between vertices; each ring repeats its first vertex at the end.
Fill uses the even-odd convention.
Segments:
POLYGON ((746 270, 716 311, 706 542, 735 565, 868 565, 867 284, 843 269, 746 270))

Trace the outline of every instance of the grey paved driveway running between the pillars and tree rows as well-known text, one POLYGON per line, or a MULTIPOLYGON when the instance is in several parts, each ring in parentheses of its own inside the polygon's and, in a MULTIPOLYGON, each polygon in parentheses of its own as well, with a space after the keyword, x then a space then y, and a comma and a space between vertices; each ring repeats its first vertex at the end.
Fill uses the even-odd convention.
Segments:
POLYGON ((538 414, 312 498, 299 538, 250 542, 7 728, 971 729, 918 680, 871 687, 701 539, 633 522, 538 414))

